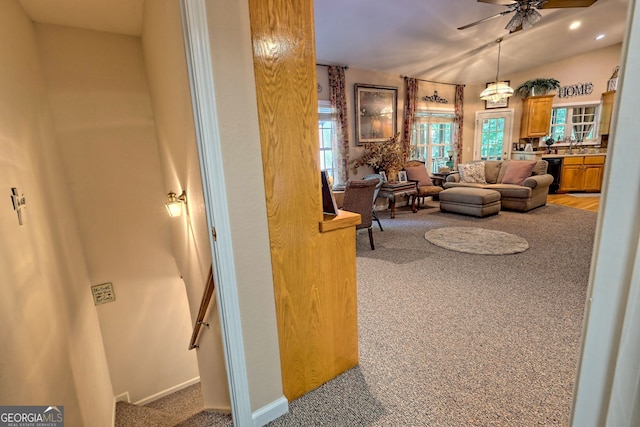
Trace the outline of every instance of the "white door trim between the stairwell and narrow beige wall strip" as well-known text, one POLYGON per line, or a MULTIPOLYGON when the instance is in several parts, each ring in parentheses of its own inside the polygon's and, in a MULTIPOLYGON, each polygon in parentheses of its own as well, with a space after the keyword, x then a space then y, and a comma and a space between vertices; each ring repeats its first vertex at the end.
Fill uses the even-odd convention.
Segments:
POLYGON ((220 312, 222 346, 227 367, 231 414, 236 426, 253 426, 249 382, 242 338, 240 304, 227 210, 224 165, 218 127, 207 8, 205 0, 181 0, 187 65, 193 99, 196 140, 200 157, 205 211, 210 233, 216 299, 220 312))

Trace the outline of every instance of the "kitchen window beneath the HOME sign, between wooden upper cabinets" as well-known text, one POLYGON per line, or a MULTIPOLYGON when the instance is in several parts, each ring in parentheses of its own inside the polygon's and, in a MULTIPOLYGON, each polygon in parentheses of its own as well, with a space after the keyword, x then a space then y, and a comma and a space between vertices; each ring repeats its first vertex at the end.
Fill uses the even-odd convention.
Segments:
POLYGON ((578 142, 597 139, 598 104, 555 107, 551 112, 549 135, 555 141, 571 138, 578 142))

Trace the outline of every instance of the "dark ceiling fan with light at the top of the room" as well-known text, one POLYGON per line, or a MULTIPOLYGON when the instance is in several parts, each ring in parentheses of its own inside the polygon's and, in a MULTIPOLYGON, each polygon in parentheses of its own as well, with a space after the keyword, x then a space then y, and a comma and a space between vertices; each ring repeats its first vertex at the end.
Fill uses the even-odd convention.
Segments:
POLYGON ((515 13, 505 27, 510 33, 520 30, 526 30, 533 27, 542 18, 538 9, 560 9, 570 7, 589 7, 597 0, 516 0, 509 2, 508 0, 478 0, 480 3, 491 3, 506 6, 507 10, 496 15, 489 16, 471 24, 464 25, 459 30, 464 30, 474 25, 481 24, 500 16, 515 13))

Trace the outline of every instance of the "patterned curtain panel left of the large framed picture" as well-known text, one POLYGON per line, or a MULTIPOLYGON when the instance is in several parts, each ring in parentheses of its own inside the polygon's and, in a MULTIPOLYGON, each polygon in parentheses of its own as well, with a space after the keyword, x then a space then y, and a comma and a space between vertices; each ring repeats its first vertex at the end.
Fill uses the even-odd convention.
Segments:
POLYGON ((329 98, 336 121, 336 135, 331 138, 334 153, 335 184, 345 184, 349 179, 347 162, 349 158, 349 132, 347 121, 347 91, 344 67, 329 66, 329 98))

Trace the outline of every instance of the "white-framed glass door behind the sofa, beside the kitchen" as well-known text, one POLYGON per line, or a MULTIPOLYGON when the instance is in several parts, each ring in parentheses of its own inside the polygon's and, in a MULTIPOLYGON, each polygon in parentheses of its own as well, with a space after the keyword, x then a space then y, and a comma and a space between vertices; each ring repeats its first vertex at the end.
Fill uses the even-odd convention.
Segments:
POLYGON ((505 160, 511 153, 513 110, 476 113, 474 160, 505 160))

